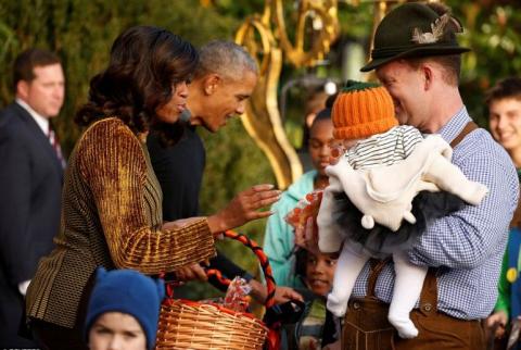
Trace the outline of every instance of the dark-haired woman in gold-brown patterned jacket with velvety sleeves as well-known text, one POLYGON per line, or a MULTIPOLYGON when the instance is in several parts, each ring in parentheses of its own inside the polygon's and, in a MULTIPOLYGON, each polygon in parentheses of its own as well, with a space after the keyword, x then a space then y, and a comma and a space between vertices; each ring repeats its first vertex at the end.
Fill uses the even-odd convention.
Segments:
POLYGON ((119 35, 107 68, 91 79, 76 116, 87 129, 68 162, 56 248, 27 292, 28 322, 42 348, 85 349, 81 326, 98 266, 155 275, 215 254, 215 217, 163 223, 144 145, 156 122, 170 124, 165 139, 179 138, 198 60, 195 48, 170 32, 137 26, 119 35))

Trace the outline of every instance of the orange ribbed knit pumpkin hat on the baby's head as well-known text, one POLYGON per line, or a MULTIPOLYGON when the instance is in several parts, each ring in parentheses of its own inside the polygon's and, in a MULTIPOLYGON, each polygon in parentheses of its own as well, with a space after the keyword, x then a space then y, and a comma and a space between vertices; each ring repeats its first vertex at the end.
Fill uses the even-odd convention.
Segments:
POLYGON ((335 139, 367 138, 398 125, 393 99, 374 83, 347 82, 334 101, 331 117, 335 139))

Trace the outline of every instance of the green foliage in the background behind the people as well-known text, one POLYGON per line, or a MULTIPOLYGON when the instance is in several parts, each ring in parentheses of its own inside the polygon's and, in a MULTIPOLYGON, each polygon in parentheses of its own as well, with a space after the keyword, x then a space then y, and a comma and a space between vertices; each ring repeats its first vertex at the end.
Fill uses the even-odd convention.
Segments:
MULTIPOLYGON (((55 120, 63 148, 69 151, 80 129, 73 123, 76 109, 85 103, 88 82, 103 70, 111 43, 125 28, 152 24, 170 29, 200 46, 211 39, 232 39, 244 18, 262 12, 263 0, 214 0, 202 7, 198 0, 0 0, 0 107, 12 98, 11 66, 14 58, 29 47, 55 51, 63 59, 66 73, 66 101, 55 120)), ((498 78, 521 71, 521 4, 512 1, 447 0, 459 16, 466 33, 461 42, 473 49, 465 55, 462 93, 471 114, 486 125, 483 91, 498 78)), ((284 1, 285 17, 294 21, 294 2, 284 1)), ((291 77, 316 74, 339 77, 342 61, 341 43, 352 40, 368 47, 372 26, 372 4, 339 5, 342 36, 329 54, 329 65, 295 70, 285 64, 280 86, 291 77)), ((287 25, 289 30, 294 26, 287 25)), ((290 37, 291 37, 290 33, 290 37)), ((302 115, 298 105, 290 105, 289 114, 302 115)), ((298 124, 298 123, 296 123, 298 124)), ((240 190, 258 183, 275 183, 265 155, 247 136, 239 120, 217 134, 201 133, 207 149, 202 209, 213 213, 223 208, 240 190)), ((262 241, 264 222, 241 228, 262 241)), ((236 243, 219 243, 236 262, 250 271, 256 263, 236 243)), ((207 295, 207 287, 190 287, 194 297, 207 295)))

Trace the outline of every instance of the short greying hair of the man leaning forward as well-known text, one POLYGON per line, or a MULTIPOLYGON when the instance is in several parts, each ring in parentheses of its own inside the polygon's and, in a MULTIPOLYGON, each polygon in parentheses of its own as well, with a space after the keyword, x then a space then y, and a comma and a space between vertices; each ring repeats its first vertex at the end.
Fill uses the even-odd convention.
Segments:
POLYGON ((195 77, 217 73, 233 79, 241 79, 244 71, 258 74, 252 55, 241 46, 226 40, 214 40, 200 50, 200 62, 195 77))

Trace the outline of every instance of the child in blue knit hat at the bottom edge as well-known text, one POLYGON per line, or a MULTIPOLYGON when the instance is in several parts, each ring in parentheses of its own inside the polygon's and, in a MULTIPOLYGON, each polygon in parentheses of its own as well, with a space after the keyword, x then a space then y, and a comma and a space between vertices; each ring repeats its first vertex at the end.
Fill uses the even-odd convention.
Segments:
POLYGON ((91 350, 151 350, 155 345, 162 279, 132 270, 97 272, 85 321, 91 350))

